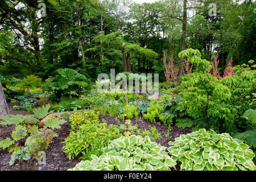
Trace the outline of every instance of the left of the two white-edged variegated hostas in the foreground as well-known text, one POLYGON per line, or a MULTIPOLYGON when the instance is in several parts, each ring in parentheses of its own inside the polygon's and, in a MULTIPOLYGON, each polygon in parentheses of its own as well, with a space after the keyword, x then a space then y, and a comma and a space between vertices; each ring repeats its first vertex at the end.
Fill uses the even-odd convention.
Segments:
POLYGON ((112 140, 100 157, 78 163, 73 171, 169 171, 176 162, 165 151, 166 147, 151 142, 147 136, 131 135, 112 140))

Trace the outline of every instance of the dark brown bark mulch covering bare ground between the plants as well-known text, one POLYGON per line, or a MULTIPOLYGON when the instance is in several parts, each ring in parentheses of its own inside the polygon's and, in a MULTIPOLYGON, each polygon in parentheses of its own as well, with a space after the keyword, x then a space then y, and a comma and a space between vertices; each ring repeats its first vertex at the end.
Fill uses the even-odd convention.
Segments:
MULTIPOLYGON (((9 105, 10 113, 11 114, 22 114, 26 115, 29 114, 27 111, 13 111, 12 106, 9 105)), ((55 113, 57 114, 57 113, 55 113)), ((102 122, 102 119, 105 119, 105 122, 108 123, 108 125, 125 125, 125 122, 123 122, 121 119, 119 119, 119 123, 115 119, 115 117, 112 117, 110 115, 100 115, 99 117, 100 121, 102 122)), ((167 139, 164 135, 168 131, 168 127, 164 126, 162 123, 150 123, 147 121, 141 121, 137 122, 137 119, 133 119, 131 122, 131 125, 135 125, 137 123, 138 129, 150 129, 151 127, 156 127, 158 132, 161 134, 161 137, 156 140, 157 143, 162 144, 162 146, 168 147, 168 142, 174 141, 176 137, 179 137, 181 134, 188 134, 191 133, 191 129, 179 129, 175 126, 172 126, 172 130, 170 131, 170 138, 167 139)), ((9 126, 6 129, 0 127, 0 139, 5 139, 6 137, 11 138, 11 132, 14 130, 15 126, 9 126)), ((73 168, 76 166, 77 163, 79 163, 80 159, 73 159, 68 160, 67 154, 63 152, 63 146, 64 143, 61 143, 64 141, 65 137, 68 137, 71 130, 71 126, 68 125, 68 123, 64 123, 61 125, 60 129, 55 129, 55 133, 58 134, 58 137, 53 138, 52 143, 50 144, 48 150, 46 150, 46 165, 43 166, 41 170, 43 171, 65 171, 69 168, 73 168)), ((7 150, 0 149, 0 171, 10 171, 10 170, 18 170, 14 169, 14 166, 9 166, 9 161, 11 159, 11 154, 7 150)), ((36 161, 34 161, 28 170, 34 170, 36 166, 36 161)), ((36 169, 38 169, 36 167, 36 169)))

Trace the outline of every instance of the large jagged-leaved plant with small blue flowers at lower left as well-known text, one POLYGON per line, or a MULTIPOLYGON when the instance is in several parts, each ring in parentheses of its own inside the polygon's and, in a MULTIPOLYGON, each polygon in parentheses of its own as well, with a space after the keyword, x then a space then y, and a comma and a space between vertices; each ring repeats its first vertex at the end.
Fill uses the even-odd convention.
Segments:
POLYGON ((11 134, 11 138, 6 138, 0 141, 0 147, 3 149, 8 148, 10 152, 13 152, 10 160, 10 166, 14 164, 15 159, 28 160, 31 156, 35 156, 37 159, 38 152, 46 150, 51 143, 52 138, 56 137, 53 129, 60 128, 60 125, 65 121, 58 118, 47 117, 51 112, 48 112, 49 105, 37 108, 34 110, 34 116, 22 115, 1 115, 3 119, 1 125, 15 125, 15 130, 11 134), (22 151, 26 148, 26 154, 18 155, 16 150, 22 151), (19 158, 16 158, 19 157, 19 158))

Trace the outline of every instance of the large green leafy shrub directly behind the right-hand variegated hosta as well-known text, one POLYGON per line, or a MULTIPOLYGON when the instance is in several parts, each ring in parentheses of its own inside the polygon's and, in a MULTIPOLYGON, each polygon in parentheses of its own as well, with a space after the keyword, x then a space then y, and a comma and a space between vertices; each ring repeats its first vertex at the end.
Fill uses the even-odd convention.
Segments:
MULTIPOLYGON (((207 129, 218 133, 236 133, 239 115, 250 109, 248 107, 255 107, 255 100, 246 97, 255 92, 255 71, 219 80, 205 73, 210 68, 209 61, 202 60, 198 50, 187 49, 179 56, 188 57, 188 61, 196 65, 196 72, 183 76, 180 88, 185 92, 180 93, 183 97, 180 107, 187 110, 191 117, 204 121, 207 129)), ((197 125, 197 128, 201 127, 197 125)))

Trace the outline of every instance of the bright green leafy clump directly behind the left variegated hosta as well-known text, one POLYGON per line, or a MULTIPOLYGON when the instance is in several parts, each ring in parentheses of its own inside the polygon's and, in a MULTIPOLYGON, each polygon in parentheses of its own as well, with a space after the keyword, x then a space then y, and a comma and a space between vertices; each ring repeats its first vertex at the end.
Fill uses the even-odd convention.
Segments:
POLYGON ((103 153, 102 148, 108 145, 109 140, 120 136, 118 126, 88 122, 81 125, 79 130, 71 131, 69 137, 65 139, 63 151, 68 154, 68 159, 81 155, 80 159, 90 160, 91 155, 100 156, 103 153))

